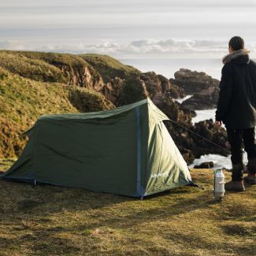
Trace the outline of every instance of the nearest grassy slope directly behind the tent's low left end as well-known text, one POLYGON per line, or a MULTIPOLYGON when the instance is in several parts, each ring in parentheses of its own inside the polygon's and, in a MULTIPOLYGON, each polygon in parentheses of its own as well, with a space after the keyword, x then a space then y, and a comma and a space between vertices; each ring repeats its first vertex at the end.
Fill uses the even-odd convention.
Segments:
POLYGON ((25 141, 19 135, 43 113, 77 113, 113 107, 95 91, 25 79, 0 68, 0 158, 20 154, 25 141))

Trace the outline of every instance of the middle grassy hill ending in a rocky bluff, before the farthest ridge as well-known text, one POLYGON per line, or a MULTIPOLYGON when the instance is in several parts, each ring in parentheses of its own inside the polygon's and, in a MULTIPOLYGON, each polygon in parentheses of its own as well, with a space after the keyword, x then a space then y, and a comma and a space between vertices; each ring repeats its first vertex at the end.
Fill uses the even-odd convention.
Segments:
POLYGON ((83 58, 74 54, 0 50, 0 66, 20 76, 42 82, 76 84, 87 87, 86 72, 98 81, 99 74, 83 58))

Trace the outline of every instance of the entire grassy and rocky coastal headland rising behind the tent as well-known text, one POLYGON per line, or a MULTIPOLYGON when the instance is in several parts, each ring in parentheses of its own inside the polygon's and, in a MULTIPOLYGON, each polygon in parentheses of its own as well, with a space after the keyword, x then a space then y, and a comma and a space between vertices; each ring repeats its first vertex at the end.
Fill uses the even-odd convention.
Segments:
MULTIPOLYGON (((176 80, 170 81, 155 72, 140 72, 106 55, 2 50, 0 67, 0 158, 20 154, 25 140, 18 135, 43 113, 110 109, 146 97, 178 124, 197 132, 207 127, 213 134, 217 133, 216 128, 208 124, 200 124, 201 130, 198 130, 191 124, 191 117, 195 116, 193 108, 173 101, 187 91, 176 80)), ((194 83, 199 75, 195 73, 193 78, 193 74, 187 77, 194 83)), ((179 80, 189 83, 185 77, 179 80)), ((205 83, 212 85, 213 81, 205 83)), ((205 90, 206 87, 205 84, 205 90)), ((201 145, 199 139, 184 128, 170 122, 166 126, 188 162, 199 154, 214 151, 210 145, 201 145)))

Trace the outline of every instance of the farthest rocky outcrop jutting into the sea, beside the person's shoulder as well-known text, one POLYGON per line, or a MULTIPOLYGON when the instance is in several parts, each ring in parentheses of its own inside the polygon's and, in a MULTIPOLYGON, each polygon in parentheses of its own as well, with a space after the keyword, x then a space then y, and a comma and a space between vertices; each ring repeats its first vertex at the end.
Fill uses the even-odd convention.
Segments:
POLYGON ((186 95, 195 95, 209 87, 217 87, 219 81, 206 75, 205 72, 196 72, 189 69, 180 69, 174 73, 175 79, 170 82, 184 89, 186 95))

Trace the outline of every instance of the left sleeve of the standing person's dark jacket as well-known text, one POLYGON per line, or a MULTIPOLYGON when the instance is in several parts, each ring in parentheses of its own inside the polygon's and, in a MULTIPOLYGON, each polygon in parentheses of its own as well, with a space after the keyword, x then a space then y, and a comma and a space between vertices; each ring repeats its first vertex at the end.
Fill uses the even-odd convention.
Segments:
POLYGON ((232 78, 232 65, 227 63, 221 69, 221 82, 220 92, 217 101, 217 110, 215 114, 216 121, 224 121, 229 103, 232 97, 233 78, 232 78))

